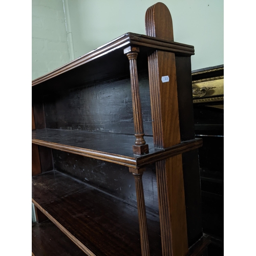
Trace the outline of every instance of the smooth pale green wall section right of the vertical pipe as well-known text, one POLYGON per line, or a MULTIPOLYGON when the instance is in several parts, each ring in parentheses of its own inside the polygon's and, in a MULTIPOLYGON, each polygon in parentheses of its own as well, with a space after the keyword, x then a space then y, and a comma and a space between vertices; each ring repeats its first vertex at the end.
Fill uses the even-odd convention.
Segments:
MULTIPOLYGON (((155 0, 68 2, 77 58, 126 33, 145 34, 146 9, 155 0)), ((222 65, 223 0, 163 0, 173 18, 174 40, 195 47, 192 70, 222 65)))

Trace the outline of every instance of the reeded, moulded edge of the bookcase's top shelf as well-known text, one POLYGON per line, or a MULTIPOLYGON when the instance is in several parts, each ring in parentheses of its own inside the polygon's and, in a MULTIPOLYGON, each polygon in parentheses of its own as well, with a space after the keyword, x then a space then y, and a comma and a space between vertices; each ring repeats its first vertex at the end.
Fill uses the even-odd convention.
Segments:
MULTIPOLYGON (((146 35, 140 35, 135 33, 125 33, 118 38, 108 42, 107 44, 85 54, 81 57, 78 57, 77 59, 67 63, 64 66, 61 66, 58 69, 55 69, 54 71, 38 77, 32 81, 32 86, 35 86, 36 84, 45 82, 51 78, 54 78, 56 76, 59 76, 63 73, 67 73, 68 71, 74 70, 75 68, 78 68, 88 62, 91 62, 92 60, 95 60, 99 57, 102 57, 106 54, 112 55, 113 52, 116 52, 118 50, 118 54, 123 55, 123 49, 128 46, 138 46, 140 48, 140 52, 142 55, 144 55, 147 58, 147 53, 150 50, 163 50, 168 52, 174 52, 177 55, 182 56, 191 56, 194 55, 194 47, 180 44, 179 42, 174 41, 168 41, 161 38, 146 36, 146 35)), ((114 54, 115 55, 115 54, 114 54)), ((102 59, 101 59, 102 60, 102 59)), ((116 58, 115 58, 116 60, 116 58)), ((126 59, 125 59, 126 60, 126 59)), ((127 60, 126 60, 127 61, 127 60)), ((105 61, 101 61, 101 66, 105 65, 105 61)), ((108 62, 108 61, 107 61, 108 62)), ((107 63, 108 64, 108 63, 107 63)), ((119 63, 120 64, 120 63, 119 63)), ((98 63, 97 63, 98 65, 98 63)), ((108 66, 108 65, 106 65, 108 66)), ((101 69, 102 71, 102 69, 101 69)), ((108 72, 109 73, 109 72, 108 72)), ((74 79, 74 77, 73 77, 74 79)))

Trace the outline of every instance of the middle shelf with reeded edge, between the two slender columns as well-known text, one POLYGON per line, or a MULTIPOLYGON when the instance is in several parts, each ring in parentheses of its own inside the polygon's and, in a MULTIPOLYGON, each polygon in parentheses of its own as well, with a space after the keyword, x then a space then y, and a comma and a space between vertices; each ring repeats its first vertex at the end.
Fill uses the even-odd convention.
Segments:
POLYGON ((32 131, 32 143, 73 154, 109 161, 132 168, 160 161, 202 145, 202 139, 184 141, 164 149, 154 148, 153 137, 144 136, 149 154, 133 154, 134 135, 40 129, 32 131))

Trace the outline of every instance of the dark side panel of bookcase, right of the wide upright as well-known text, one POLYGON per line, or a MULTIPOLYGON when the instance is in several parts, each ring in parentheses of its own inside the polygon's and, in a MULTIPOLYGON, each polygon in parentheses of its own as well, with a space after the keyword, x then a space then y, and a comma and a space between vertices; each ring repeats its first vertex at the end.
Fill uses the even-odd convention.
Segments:
MULTIPOLYGON (((176 56, 181 141, 195 138, 190 57, 176 56)), ((198 150, 182 154, 188 246, 203 234, 198 150)))

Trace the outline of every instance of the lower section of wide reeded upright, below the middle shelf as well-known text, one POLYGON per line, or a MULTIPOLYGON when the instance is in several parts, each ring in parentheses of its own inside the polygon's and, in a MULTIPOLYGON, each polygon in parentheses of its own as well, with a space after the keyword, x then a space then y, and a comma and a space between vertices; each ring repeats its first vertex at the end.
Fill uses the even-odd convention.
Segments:
POLYGON ((187 226, 181 155, 156 163, 163 255, 186 255, 187 226))

